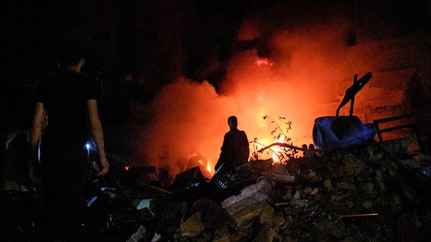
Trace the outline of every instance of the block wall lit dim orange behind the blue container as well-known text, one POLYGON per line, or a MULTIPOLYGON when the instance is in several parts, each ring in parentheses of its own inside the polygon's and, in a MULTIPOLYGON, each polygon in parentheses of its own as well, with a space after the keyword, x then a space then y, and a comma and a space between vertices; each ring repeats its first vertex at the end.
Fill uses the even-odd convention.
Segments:
MULTIPOLYGON (((370 66, 362 65, 358 78, 371 71, 373 78, 355 97, 354 115, 364 123, 401 114, 431 110, 431 41, 415 36, 391 40, 379 40, 353 46, 358 55, 369 58, 370 66), (359 53, 360 50, 360 53, 359 53)), ((363 58, 363 57, 362 57, 363 58)), ((355 59, 360 59, 356 57, 355 59)), ((352 78, 340 80, 337 101, 326 104, 326 110, 334 113, 352 78)), ((340 115, 349 115, 350 103, 340 115)), ((399 123, 398 123, 399 124, 399 123)), ((390 126, 397 123, 388 124, 390 126)), ((383 126, 384 128, 385 126, 383 126)), ((384 139, 405 136, 409 130, 383 134, 384 139)))

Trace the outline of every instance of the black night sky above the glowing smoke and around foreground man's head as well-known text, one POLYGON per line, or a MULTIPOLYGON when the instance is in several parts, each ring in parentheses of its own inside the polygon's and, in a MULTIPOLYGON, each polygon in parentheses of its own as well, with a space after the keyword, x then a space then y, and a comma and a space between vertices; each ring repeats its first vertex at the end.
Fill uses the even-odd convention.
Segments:
MULTIPOLYGON (((260 57, 274 56, 267 36, 333 16, 353 26, 346 45, 355 45, 359 32, 371 39, 430 33, 430 5, 429 0, 2 1, 2 130, 28 127, 34 89, 56 71, 55 56, 62 46, 87 51, 84 72, 102 85, 107 146, 121 153, 121 133, 130 132, 122 126, 136 119, 130 116, 130 104, 150 103, 180 76, 208 80, 218 90, 235 54, 257 49, 260 57), (238 39, 246 19, 264 23, 258 38, 238 39), (132 80, 126 81, 126 75, 132 80)), ((135 121, 147 123, 150 118, 144 114, 135 121)))

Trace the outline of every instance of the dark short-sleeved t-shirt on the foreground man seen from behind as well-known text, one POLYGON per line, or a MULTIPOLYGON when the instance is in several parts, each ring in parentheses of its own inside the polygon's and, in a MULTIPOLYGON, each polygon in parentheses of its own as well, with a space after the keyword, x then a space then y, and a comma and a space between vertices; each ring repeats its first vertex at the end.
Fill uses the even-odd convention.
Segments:
POLYGON ((84 147, 89 137, 86 102, 97 93, 95 81, 74 71, 62 71, 39 85, 36 102, 48 112, 42 150, 84 147))

